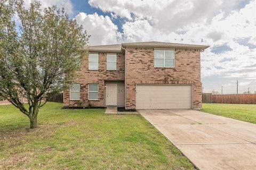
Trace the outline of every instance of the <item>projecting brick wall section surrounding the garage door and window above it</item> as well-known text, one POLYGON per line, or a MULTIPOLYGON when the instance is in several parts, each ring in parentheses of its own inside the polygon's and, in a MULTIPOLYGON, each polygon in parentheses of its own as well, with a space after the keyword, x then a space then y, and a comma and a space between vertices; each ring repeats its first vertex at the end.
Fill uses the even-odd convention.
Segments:
POLYGON ((176 49, 175 68, 154 67, 154 48, 127 48, 126 108, 135 108, 136 84, 192 84, 193 108, 202 107, 200 51, 176 49))

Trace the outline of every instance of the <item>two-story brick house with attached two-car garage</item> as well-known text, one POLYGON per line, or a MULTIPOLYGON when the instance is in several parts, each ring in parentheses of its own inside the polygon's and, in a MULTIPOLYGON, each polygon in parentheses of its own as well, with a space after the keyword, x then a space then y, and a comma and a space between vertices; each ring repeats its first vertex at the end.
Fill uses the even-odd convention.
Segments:
POLYGON ((155 41, 86 47, 63 105, 200 109, 200 53, 207 47, 155 41))

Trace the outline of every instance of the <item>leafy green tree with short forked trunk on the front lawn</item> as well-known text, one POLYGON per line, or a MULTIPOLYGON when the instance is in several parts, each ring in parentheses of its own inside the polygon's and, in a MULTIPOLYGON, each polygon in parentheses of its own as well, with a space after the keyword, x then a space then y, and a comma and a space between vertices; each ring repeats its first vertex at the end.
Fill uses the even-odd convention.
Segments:
POLYGON ((56 6, 0 1, 0 100, 7 99, 37 127, 46 97, 71 86, 88 44, 82 25, 56 6), (28 107, 21 101, 28 100, 28 107))

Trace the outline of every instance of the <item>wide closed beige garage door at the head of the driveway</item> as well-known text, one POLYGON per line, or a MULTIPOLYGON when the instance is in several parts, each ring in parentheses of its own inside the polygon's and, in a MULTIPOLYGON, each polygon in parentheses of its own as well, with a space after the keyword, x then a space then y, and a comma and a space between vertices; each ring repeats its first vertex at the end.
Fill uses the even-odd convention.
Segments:
POLYGON ((137 84, 137 109, 191 108, 191 85, 137 84))

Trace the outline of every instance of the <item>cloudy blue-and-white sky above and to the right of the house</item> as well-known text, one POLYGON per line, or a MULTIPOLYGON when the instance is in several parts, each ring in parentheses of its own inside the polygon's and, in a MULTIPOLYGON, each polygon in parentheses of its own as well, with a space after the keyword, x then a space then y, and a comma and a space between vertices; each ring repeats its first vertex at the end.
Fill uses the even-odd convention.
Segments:
MULTIPOLYGON (((26 0, 29 3, 30 0, 26 0)), ((63 6, 91 45, 165 41, 210 45, 201 53, 204 92, 256 91, 256 0, 44 0, 63 6)))

